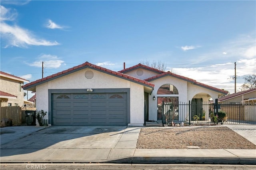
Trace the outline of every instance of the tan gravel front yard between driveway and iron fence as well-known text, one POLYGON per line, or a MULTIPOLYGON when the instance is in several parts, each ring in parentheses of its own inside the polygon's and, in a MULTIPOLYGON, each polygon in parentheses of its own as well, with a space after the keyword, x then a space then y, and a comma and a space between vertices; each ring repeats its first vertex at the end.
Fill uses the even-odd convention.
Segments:
POLYGON ((144 149, 256 149, 256 145, 228 127, 141 128, 136 148, 144 149))

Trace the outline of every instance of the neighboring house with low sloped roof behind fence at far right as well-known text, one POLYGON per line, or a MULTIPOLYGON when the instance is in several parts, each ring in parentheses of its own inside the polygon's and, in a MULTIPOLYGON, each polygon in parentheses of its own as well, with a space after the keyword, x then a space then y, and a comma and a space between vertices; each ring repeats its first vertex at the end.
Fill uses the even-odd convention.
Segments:
POLYGON ((256 89, 249 89, 218 98, 222 104, 256 104, 256 89))

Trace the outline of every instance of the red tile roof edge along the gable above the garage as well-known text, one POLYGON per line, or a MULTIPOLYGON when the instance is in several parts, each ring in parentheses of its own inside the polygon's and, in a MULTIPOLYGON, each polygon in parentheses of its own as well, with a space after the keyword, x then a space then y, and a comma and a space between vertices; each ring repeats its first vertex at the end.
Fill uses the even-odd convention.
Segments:
POLYGON ((116 71, 112 71, 112 70, 110 70, 110 69, 106 69, 106 68, 100 67, 100 66, 98 66, 98 65, 91 64, 91 63, 89 63, 89 62, 86 61, 85 63, 80 64, 80 65, 77 65, 77 66, 72 67, 72 68, 70 68, 70 69, 66 69, 66 70, 61 71, 61 72, 59 72, 59 73, 56 73, 56 74, 53 74, 53 75, 49 75, 49 76, 44 77, 44 78, 42 78, 42 79, 38 79, 38 80, 36 80, 36 81, 32 81, 31 83, 28 83, 28 84, 26 84, 26 85, 23 85, 22 88, 26 90, 26 89, 28 89, 28 88, 30 88, 30 87, 33 87, 33 86, 36 86, 36 85, 38 85, 38 84, 40 84, 40 83, 44 83, 44 82, 46 82, 46 81, 50 81, 50 80, 55 79, 55 78, 57 78, 57 77, 60 77, 60 76, 63 76, 63 75, 72 73, 72 72, 74 72, 74 71, 78 71, 78 70, 83 69, 83 68, 86 68, 86 67, 91 67, 91 68, 96 69, 96 70, 98 70, 98 71, 106 72, 106 73, 109 73, 109 74, 111 74, 111 75, 115 75, 115 76, 117 76, 117 77, 121 77, 121 78, 124 78, 124 79, 128 79, 128 80, 130 80, 130 81, 142 83, 142 84, 144 84, 144 85, 146 85, 146 86, 150 86, 150 87, 154 87, 154 86, 155 86, 154 84, 152 84, 152 83, 150 83, 150 82, 147 82, 147 81, 138 79, 138 78, 136 78, 136 77, 132 77, 132 76, 130 76, 130 75, 126 75, 126 74, 123 74, 123 73, 119 73, 119 72, 116 72, 116 71))

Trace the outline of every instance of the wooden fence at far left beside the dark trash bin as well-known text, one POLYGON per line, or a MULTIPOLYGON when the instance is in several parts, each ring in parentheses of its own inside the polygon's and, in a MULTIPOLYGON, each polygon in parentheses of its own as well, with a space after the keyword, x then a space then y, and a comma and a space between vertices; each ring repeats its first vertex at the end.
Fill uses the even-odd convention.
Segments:
POLYGON ((6 106, 0 109, 0 119, 12 119, 12 125, 22 125, 26 123, 25 111, 35 111, 35 107, 19 107, 19 106, 6 106))

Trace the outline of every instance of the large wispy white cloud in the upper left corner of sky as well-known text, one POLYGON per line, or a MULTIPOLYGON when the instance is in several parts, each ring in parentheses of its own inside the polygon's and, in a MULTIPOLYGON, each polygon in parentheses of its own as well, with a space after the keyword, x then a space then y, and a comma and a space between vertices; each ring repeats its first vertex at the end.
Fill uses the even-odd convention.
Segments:
POLYGON ((16 19, 17 13, 12 12, 10 9, 1 6, 1 39, 4 39, 6 43, 5 47, 27 47, 28 45, 59 45, 58 42, 50 42, 42 38, 36 38, 29 30, 20 28, 16 25, 6 24, 5 21, 13 21, 16 19), (2 12, 3 10, 3 12, 2 12))

